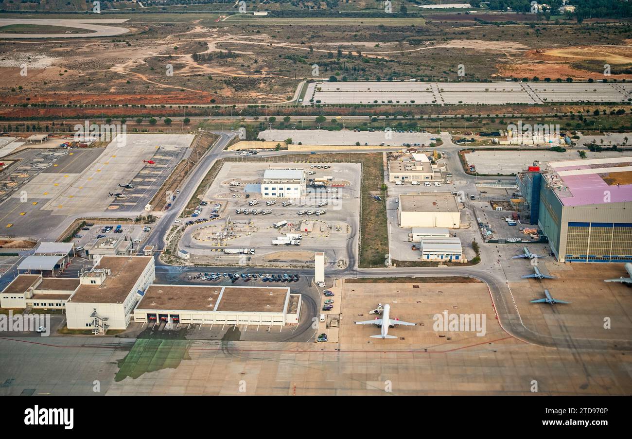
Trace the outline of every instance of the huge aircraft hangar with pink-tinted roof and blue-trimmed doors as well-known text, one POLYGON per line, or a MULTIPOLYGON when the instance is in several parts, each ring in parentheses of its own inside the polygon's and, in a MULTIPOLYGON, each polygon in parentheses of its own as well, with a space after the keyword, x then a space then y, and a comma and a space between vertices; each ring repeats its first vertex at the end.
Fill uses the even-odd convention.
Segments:
POLYGON ((540 168, 538 226, 560 262, 632 262, 632 156, 540 168))

